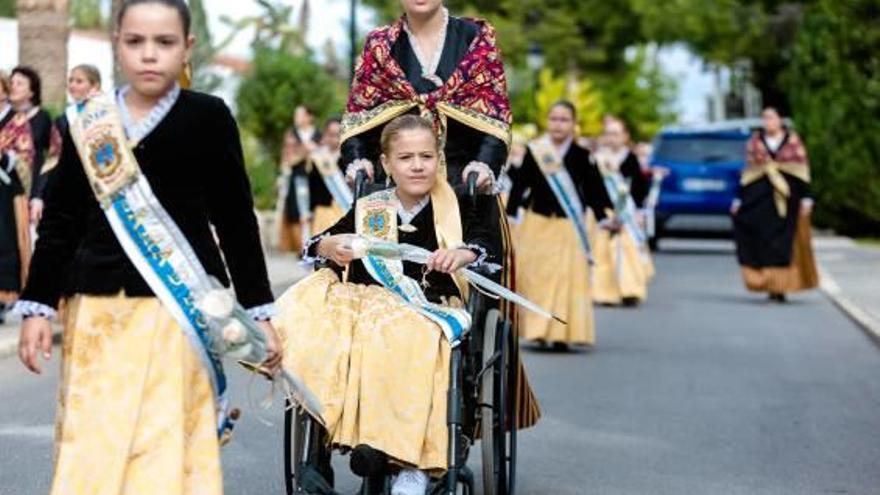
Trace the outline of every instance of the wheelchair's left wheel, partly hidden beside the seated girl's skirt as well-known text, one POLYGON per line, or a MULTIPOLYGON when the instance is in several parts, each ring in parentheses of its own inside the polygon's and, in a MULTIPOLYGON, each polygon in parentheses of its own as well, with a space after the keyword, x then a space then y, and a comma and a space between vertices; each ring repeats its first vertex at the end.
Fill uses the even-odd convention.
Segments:
MULTIPOLYGON (((304 481, 318 472, 323 452, 321 426, 301 408, 287 404, 284 411, 284 486, 287 495, 314 493, 304 481), (310 473, 306 473, 306 471, 310 473)), ((331 480, 332 483, 332 480, 331 480)))

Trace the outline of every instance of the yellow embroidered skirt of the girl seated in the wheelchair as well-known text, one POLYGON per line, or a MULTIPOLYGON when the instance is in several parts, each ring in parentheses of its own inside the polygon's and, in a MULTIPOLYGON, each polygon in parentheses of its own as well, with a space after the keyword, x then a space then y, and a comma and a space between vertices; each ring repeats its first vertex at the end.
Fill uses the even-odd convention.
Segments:
POLYGON ((318 396, 333 445, 446 469, 450 347, 439 327, 385 288, 328 269, 291 287, 278 309, 284 366, 318 396))

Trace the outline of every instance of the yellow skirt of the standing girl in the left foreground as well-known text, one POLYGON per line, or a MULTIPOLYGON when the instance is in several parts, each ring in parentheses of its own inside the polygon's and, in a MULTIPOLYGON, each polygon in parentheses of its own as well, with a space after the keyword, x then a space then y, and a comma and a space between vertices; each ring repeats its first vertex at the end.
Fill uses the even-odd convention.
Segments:
POLYGON ((53 495, 221 495, 207 371, 154 298, 76 296, 62 344, 53 495))

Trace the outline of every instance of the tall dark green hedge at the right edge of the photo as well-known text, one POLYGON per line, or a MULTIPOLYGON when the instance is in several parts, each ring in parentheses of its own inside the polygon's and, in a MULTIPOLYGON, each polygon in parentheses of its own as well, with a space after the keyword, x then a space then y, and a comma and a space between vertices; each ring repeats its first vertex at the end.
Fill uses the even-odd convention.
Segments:
POLYGON ((880 9, 820 0, 795 45, 790 97, 810 155, 816 221, 880 234, 880 9))

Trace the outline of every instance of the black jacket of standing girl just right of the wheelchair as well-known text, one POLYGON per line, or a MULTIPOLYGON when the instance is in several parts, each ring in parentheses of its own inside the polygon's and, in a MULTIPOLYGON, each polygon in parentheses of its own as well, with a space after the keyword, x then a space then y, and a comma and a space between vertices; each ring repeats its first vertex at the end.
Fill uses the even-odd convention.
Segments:
MULTIPOLYGON (((613 209, 613 206, 605 190, 602 174, 590 157, 590 152, 577 143, 572 143, 563 158, 563 164, 577 187, 584 208, 591 208, 598 220, 604 219, 605 209, 613 209)), ((566 216, 531 150, 526 153, 522 166, 510 177, 513 188, 507 201, 508 215, 516 215, 516 211, 522 206, 548 217, 566 216), (528 197, 527 190, 530 191, 528 197)))

